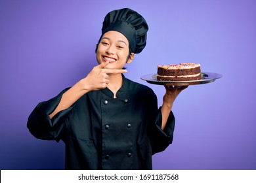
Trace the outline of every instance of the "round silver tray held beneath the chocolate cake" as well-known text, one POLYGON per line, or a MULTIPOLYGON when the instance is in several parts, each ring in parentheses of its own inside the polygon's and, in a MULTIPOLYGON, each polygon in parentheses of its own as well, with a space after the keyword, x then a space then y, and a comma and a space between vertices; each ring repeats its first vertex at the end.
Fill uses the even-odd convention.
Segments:
POLYGON ((150 84, 187 86, 187 85, 211 83, 222 77, 222 75, 220 74, 209 73, 209 72, 203 72, 201 73, 201 75, 202 75, 201 80, 190 80, 190 81, 161 81, 156 79, 157 74, 144 75, 144 76, 141 76, 140 79, 146 80, 146 82, 150 84))

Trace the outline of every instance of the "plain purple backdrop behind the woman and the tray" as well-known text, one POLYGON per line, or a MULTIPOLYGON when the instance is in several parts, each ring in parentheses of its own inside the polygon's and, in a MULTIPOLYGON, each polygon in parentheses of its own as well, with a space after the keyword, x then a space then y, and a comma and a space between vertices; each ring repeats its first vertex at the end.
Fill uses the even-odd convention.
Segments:
POLYGON ((154 169, 256 169, 255 0, 0 0, 0 169, 64 169, 64 143, 35 139, 28 116, 96 65, 103 18, 123 7, 150 26, 125 75, 159 105, 163 86, 140 80, 156 65, 190 61, 223 75, 179 95, 173 144, 154 169))

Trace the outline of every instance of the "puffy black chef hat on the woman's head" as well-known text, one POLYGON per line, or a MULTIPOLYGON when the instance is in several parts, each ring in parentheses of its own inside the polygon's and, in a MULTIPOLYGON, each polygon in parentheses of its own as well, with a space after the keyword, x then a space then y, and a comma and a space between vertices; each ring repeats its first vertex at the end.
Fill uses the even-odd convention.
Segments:
POLYGON ((108 31, 122 33, 129 41, 131 52, 135 54, 139 54, 146 46, 148 24, 139 13, 129 8, 113 10, 105 16, 102 35, 108 31))

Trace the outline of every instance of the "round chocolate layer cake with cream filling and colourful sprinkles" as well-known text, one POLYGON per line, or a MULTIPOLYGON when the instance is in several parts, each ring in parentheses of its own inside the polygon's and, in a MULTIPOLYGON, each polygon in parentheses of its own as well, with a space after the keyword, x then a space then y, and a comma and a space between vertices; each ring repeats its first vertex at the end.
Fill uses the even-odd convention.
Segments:
POLYGON ((158 65, 157 80, 161 81, 188 81, 200 80, 201 68, 199 63, 179 63, 158 65))

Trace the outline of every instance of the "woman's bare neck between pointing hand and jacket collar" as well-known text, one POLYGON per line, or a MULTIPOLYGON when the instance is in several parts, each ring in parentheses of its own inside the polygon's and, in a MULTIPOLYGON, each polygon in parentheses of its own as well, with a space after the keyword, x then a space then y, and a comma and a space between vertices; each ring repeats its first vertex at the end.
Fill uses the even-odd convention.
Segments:
POLYGON ((110 82, 108 83, 108 89, 114 93, 114 98, 116 98, 116 93, 121 88, 123 84, 123 77, 121 74, 108 75, 110 82))

